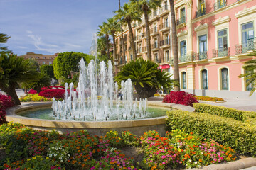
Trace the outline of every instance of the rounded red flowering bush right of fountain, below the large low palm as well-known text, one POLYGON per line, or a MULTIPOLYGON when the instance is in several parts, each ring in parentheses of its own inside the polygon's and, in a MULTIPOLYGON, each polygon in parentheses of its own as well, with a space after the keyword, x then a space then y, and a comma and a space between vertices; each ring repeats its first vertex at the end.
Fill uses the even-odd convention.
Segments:
POLYGON ((164 96, 163 102, 182 104, 193 107, 193 103, 198 103, 198 100, 196 100, 193 94, 189 94, 186 91, 171 91, 170 94, 164 96))

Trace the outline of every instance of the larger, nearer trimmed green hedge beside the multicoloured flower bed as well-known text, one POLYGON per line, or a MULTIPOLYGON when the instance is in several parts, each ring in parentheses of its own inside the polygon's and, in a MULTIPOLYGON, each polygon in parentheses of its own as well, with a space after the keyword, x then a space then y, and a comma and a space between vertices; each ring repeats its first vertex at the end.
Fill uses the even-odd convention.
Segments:
POLYGON ((256 126, 233 118, 223 118, 207 113, 167 111, 168 130, 180 129, 215 139, 234 148, 240 154, 256 156, 256 126))

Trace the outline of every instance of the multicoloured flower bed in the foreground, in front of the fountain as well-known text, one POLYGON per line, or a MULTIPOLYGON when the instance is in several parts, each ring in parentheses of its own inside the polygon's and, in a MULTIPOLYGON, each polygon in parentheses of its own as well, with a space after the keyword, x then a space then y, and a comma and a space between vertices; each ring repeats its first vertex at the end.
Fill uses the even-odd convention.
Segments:
POLYGON ((155 130, 141 137, 129 131, 98 137, 86 130, 60 135, 8 123, 0 126, 0 147, 6 148, 6 159, 0 160, 4 169, 184 169, 236 159, 230 147, 181 130, 164 137, 155 130), (142 150, 142 162, 122 154, 127 145, 142 150))

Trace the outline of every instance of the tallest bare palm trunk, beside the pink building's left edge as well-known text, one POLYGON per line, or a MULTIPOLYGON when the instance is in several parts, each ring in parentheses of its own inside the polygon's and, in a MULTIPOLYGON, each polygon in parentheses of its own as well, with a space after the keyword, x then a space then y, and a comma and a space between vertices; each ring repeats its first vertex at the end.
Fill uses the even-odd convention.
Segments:
MULTIPOLYGON (((174 80, 179 83, 178 75, 178 40, 177 40, 177 31, 176 31, 176 19, 174 12, 174 0, 170 1, 170 10, 171 10, 171 40, 172 47, 174 52, 174 80)), ((179 86, 174 86, 174 91, 180 91, 179 86)))

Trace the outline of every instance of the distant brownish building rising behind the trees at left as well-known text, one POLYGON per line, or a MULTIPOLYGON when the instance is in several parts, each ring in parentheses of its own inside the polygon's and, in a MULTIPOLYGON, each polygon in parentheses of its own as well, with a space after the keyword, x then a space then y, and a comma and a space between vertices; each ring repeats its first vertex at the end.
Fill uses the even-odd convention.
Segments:
POLYGON ((54 55, 42 55, 36 54, 34 52, 27 52, 26 55, 20 55, 18 57, 23 57, 25 59, 33 59, 36 60, 39 64, 53 64, 53 60, 58 56, 58 53, 54 55))

